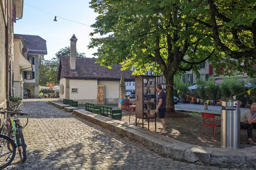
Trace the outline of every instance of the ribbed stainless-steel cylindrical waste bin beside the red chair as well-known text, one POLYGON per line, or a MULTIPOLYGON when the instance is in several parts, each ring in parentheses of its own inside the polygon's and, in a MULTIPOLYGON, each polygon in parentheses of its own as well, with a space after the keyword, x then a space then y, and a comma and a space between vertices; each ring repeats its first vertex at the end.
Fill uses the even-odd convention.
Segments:
POLYGON ((221 98, 221 148, 240 149, 240 101, 221 98))

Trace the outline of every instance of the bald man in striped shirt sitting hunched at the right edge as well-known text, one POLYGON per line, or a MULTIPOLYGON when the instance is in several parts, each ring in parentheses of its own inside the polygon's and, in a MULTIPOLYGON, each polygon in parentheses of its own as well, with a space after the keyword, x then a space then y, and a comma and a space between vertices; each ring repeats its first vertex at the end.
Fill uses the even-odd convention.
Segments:
POLYGON ((240 128, 247 129, 247 143, 256 145, 256 142, 252 141, 252 129, 256 129, 256 103, 253 103, 251 108, 242 114, 240 118, 240 128))

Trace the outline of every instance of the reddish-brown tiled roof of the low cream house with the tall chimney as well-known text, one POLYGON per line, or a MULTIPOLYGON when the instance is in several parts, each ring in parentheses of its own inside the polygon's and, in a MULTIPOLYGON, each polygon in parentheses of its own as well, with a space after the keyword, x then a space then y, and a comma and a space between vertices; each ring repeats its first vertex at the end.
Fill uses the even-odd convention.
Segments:
MULTIPOLYGON (((112 69, 100 66, 99 63, 95 63, 97 59, 95 58, 79 58, 76 57, 76 72, 69 71, 69 57, 61 56, 60 64, 61 70, 63 72, 64 78, 87 78, 87 79, 118 79, 120 80, 123 73, 125 80, 133 80, 132 71, 120 69, 122 66, 120 64, 114 64, 112 69)), ((61 71, 59 70, 59 71, 61 71)), ((60 75, 60 72, 59 72, 60 75)))

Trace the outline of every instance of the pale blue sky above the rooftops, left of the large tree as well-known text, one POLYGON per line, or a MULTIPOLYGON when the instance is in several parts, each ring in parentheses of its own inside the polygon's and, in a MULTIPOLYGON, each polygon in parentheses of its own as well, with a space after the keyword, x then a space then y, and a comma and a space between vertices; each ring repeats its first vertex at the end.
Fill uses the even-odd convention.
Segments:
POLYGON ((87 45, 92 38, 89 34, 93 32, 93 28, 89 26, 96 22, 98 14, 89 8, 89 2, 90 0, 24 0, 23 17, 14 23, 14 34, 37 35, 46 40, 46 60, 55 57, 55 53, 61 48, 70 46, 69 40, 75 34, 78 39, 77 52, 84 52, 86 57, 94 57, 92 54, 97 49, 88 49, 87 45), (55 16, 57 22, 53 21, 55 16))

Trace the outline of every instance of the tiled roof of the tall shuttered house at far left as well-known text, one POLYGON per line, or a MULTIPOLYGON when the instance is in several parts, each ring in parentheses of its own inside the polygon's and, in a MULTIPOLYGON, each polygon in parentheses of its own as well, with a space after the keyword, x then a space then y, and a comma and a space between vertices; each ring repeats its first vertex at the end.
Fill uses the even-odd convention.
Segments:
POLYGON ((23 34, 14 34, 14 36, 25 39, 25 47, 28 48, 30 53, 47 54, 46 41, 41 37, 23 34), (27 43, 27 41, 30 41, 30 43, 27 43))

